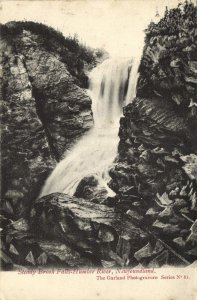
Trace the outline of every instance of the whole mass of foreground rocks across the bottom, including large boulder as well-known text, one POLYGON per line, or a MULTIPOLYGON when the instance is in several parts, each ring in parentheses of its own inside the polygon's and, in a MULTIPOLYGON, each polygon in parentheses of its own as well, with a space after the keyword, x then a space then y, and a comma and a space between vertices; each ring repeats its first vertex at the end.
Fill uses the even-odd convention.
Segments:
POLYGON ((140 219, 92 201, 51 194, 36 200, 30 222, 2 232, 4 268, 160 267, 189 262, 140 226, 140 219), (19 266, 20 265, 20 266, 19 266))

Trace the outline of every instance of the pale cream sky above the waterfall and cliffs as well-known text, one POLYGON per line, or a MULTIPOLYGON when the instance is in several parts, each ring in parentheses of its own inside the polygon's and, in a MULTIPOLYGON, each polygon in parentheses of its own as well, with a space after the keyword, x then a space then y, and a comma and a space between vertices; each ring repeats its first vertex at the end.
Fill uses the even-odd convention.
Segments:
POLYGON ((1 23, 31 20, 52 26, 65 36, 77 33, 93 48, 104 48, 113 57, 141 54, 144 29, 162 16, 166 5, 179 0, 80 0, 1 1, 1 23))

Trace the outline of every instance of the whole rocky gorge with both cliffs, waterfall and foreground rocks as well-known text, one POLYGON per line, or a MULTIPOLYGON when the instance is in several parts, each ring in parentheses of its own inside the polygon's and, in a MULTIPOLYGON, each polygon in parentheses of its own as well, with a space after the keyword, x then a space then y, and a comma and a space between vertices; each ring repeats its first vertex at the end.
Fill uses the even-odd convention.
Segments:
POLYGON ((3 269, 196 265, 195 16, 166 9, 129 58, 2 25, 3 269))

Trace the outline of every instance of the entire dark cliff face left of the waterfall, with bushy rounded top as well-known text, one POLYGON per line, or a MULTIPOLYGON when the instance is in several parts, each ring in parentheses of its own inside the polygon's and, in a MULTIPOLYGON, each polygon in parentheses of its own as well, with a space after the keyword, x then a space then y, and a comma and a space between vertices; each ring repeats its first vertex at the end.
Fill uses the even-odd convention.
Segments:
POLYGON ((93 118, 84 67, 69 59, 74 56, 76 63, 80 55, 66 48, 63 36, 59 41, 52 29, 25 22, 8 23, 1 31, 2 209, 16 217, 93 118))

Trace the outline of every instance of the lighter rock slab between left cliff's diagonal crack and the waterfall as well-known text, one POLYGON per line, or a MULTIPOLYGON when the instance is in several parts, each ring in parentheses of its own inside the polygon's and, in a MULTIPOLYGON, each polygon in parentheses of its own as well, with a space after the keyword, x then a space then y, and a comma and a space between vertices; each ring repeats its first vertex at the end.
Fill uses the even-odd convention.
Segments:
POLYGON ((37 112, 59 160, 93 125, 91 100, 58 56, 37 47, 36 35, 23 31, 19 40, 16 48, 24 57, 37 112))

